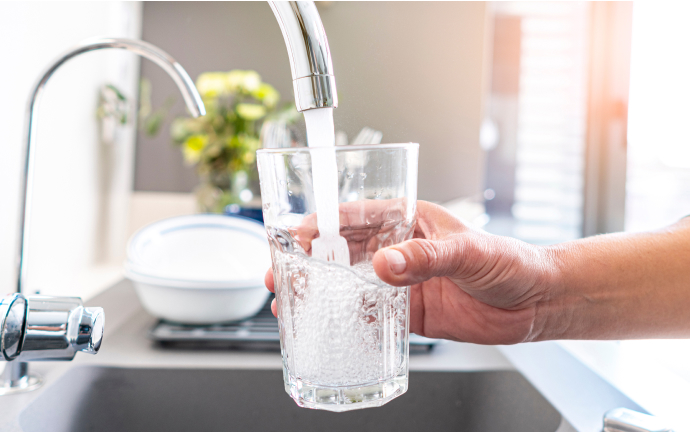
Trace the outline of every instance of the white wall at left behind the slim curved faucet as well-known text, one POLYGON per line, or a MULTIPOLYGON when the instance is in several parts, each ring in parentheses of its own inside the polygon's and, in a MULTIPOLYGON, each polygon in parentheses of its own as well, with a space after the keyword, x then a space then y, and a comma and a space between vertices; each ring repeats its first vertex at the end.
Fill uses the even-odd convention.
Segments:
MULTIPOLYGON (((83 39, 138 38, 140 29, 139 2, 0 3, 0 294, 15 288, 20 152, 34 81, 49 62, 83 39)), ((99 276, 116 277, 118 267, 108 264, 118 257, 102 249, 105 239, 115 235, 115 242, 123 243, 119 238, 126 235, 134 131, 130 126, 121 134, 109 162, 114 174, 105 179, 97 92, 113 83, 134 98, 138 73, 136 56, 106 50, 69 61, 48 83, 37 121, 29 290, 89 296, 107 283, 99 276), (104 212, 111 213, 108 226, 104 212)), ((111 240, 109 248, 115 246, 111 240)))

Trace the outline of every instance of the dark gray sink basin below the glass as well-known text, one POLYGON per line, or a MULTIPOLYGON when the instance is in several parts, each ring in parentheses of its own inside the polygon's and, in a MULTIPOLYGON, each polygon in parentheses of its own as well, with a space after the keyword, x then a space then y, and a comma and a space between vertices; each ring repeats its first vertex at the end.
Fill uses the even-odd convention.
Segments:
POLYGON ((516 371, 411 372, 381 408, 299 408, 276 370, 75 367, 20 415, 25 432, 554 432, 561 415, 516 371))

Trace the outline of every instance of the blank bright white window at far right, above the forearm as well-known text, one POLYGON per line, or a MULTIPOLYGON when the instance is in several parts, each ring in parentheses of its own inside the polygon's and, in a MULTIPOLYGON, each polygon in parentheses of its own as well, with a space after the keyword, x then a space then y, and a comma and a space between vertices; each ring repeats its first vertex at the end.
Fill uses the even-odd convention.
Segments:
POLYGON ((690 215, 690 4, 661 5, 633 12, 626 231, 690 215))

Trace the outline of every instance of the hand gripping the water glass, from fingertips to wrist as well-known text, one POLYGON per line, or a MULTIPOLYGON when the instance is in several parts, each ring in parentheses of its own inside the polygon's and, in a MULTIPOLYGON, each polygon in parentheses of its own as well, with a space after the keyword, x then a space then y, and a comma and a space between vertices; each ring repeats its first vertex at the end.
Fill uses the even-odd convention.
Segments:
MULTIPOLYGON (((298 235, 303 247, 315 235, 310 225, 298 235)), ((348 245, 367 250, 368 242, 357 239, 348 245)), ((373 265, 384 282, 411 285, 411 332, 481 344, 541 336, 545 315, 538 312, 555 269, 547 249, 472 229, 442 207, 418 201, 414 238, 378 250, 373 265)), ((266 286, 274 291, 271 270, 266 286)), ((272 310, 275 315, 275 302, 272 310)))

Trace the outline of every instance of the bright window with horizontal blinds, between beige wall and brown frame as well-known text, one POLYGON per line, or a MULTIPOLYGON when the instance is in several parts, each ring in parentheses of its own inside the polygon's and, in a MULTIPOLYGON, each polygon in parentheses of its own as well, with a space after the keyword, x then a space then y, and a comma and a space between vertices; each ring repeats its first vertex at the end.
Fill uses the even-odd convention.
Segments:
POLYGON ((537 244, 579 238, 589 4, 493 5, 485 229, 537 244))

